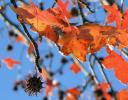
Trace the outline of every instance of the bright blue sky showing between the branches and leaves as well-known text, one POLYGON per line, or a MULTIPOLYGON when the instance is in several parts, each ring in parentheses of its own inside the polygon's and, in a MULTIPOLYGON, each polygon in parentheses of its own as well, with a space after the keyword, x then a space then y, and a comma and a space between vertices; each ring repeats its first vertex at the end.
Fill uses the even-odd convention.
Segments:
MULTIPOLYGON (((34 3, 38 4, 41 0, 33 0, 34 3), (38 2, 37 2, 38 1, 38 2)), ((44 2, 44 8, 47 9, 51 7, 53 4, 53 0, 42 0, 44 2)), ((4 3, 9 3, 9 0, 5 0, 4 3)), ((100 6, 99 3, 95 3, 95 5, 98 7, 100 6)), ((125 5, 128 5, 128 1, 125 0, 125 5)), ((70 7, 69 7, 70 8, 70 7)), ((14 22, 18 23, 16 20, 15 13, 11 11, 10 7, 7 6, 6 8, 6 14, 7 16, 14 22)), ((104 10, 101 8, 96 13, 96 19, 94 18, 94 15, 90 15, 87 17, 88 19, 92 21, 97 21, 97 23, 103 24, 103 20, 105 19, 105 13, 104 10)), ((78 24, 81 24, 81 18, 74 18, 71 20, 79 22, 78 24)), ((28 27, 29 28, 29 27, 28 27)), ((34 65, 30 61, 30 56, 27 54, 28 47, 24 45, 23 43, 16 43, 15 39, 10 39, 8 35, 8 31, 11 29, 11 26, 7 26, 5 22, 0 18, 0 60, 11 57, 17 60, 21 61, 21 65, 16 65, 12 70, 9 70, 5 63, 0 62, 1 68, 0 68, 0 98, 4 100, 42 100, 43 97, 43 90, 38 96, 28 96, 23 89, 19 89, 17 92, 13 91, 13 84, 17 79, 23 79, 28 73, 34 73, 34 65), (1 28, 3 28, 1 30, 1 28), (13 51, 8 52, 6 50, 7 45, 12 44, 14 49, 13 51)), ((31 35, 33 37, 36 37, 37 34, 31 32, 31 35)), ((54 58, 52 63, 52 70, 55 71, 57 68, 61 66, 60 58, 62 55, 59 53, 58 48, 52 44, 51 52, 54 53, 54 58)), ((49 45, 44 40, 42 44, 39 45, 40 55, 44 57, 45 54, 47 54, 49 51, 49 45), (44 52, 45 51, 45 52, 44 52)), ((98 56, 105 56, 105 48, 102 48, 101 51, 97 53, 98 56)), ((69 56, 66 57, 67 59, 70 59, 69 56)), ((88 58, 88 56, 87 56, 88 58)), ((49 60, 45 62, 45 66, 47 67, 49 64, 49 60)), ((72 62, 67 63, 64 67, 64 75, 56 75, 54 77, 55 80, 58 80, 62 83, 62 89, 66 90, 70 87, 75 87, 77 85, 81 85, 82 82, 85 80, 85 76, 82 72, 79 74, 74 74, 69 70, 69 66, 71 66, 72 62)), ((84 67, 89 71, 88 68, 88 62, 83 63, 84 67)), ((98 76, 101 76, 99 70, 96 67, 96 73, 98 76)), ((115 79, 114 73, 112 70, 106 70, 108 79, 112 82, 112 85, 115 90, 119 90, 121 88, 124 88, 127 86, 124 86, 121 84, 117 79, 115 79)), ((102 77, 99 77, 99 80, 102 82, 102 77)), ((87 94, 92 95, 92 89, 89 86, 87 90, 84 92, 84 97, 81 97, 80 100, 88 100, 87 94), (84 98, 84 99, 83 99, 84 98)), ((57 100, 56 91, 54 90, 54 95, 52 97, 52 100, 57 100)), ((94 98, 92 98, 94 99, 94 98)))

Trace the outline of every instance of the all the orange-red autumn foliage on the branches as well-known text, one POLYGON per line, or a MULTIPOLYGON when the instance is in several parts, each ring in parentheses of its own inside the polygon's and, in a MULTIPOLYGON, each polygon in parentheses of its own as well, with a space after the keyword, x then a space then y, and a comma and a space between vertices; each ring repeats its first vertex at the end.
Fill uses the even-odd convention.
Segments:
MULTIPOLYGON (((53 78, 56 73, 44 67, 40 68, 40 62, 38 61, 38 59, 40 60, 38 42, 42 42, 42 38, 46 38, 48 43, 54 43, 62 54, 73 56, 71 59, 73 63, 69 69, 75 75, 78 75, 80 72, 82 73, 84 68, 81 68, 80 64, 89 61, 88 56, 93 55, 95 57, 92 65, 95 65, 95 61, 99 63, 97 66, 101 67, 101 73, 105 78, 104 80, 106 80, 106 82, 102 83, 98 81, 97 77, 95 77, 95 66, 91 66, 92 61, 90 60, 89 67, 91 68, 91 73, 89 72, 85 76, 89 77, 91 85, 95 85, 94 93, 96 100, 112 100, 112 98, 115 100, 127 100, 128 91, 126 89, 122 89, 119 92, 114 91, 112 84, 109 82, 109 78, 107 78, 105 74, 104 68, 107 70, 112 69, 115 77, 121 83, 128 83, 128 62, 125 57, 121 55, 121 53, 127 55, 128 51, 128 8, 123 12, 116 2, 114 2, 112 6, 102 3, 101 7, 106 12, 105 25, 89 21, 84 23, 83 9, 88 8, 91 13, 93 13, 93 11, 90 10, 89 5, 85 3, 86 0, 71 1, 73 1, 72 5, 74 7, 71 10, 69 9, 70 0, 65 0, 65 2, 63 0, 57 0, 55 2, 56 5, 44 10, 41 10, 32 0, 29 0, 29 4, 22 2, 18 7, 15 5, 11 6, 11 9, 17 15, 17 19, 23 26, 25 32, 27 30, 25 24, 27 24, 30 26, 31 31, 35 32, 40 38, 40 41, 36 41, 28 36, 28 40, 30 40, 28 41, 24 35, 18 35, 16 42, 24 42, 28 46, 28 54, 35 56, 35 69, 39 71, 40 76, 42 76, 46 82, 46 97, 49 97, 55 88, 59 88, 60 83, 53 78), (79 6, 79 10, 75 8, 76 5, 79 6), (71 24, 70 19, 75 17, 73 13, 81 15, 83 24, 71 24), (107 55, 101 60, 97 57, 96 53, 102 48, 105 48, 104 52, 106 52, 107 55), (118 49, 118 51, 116 49, 118 49), (98 94, 99 92, 100 95, 98 94)), ((13 3, 15 4, 15 2, 13 3)), ((52 57, 53 54, 46 56, 47 59, 52 59, 52 57)), ((21 64, 20 61, 12 58, 5 58, 2 61, 9 69, 12 69, 14 65, 21 64)), ((63 65, 67 62, 65 59, 61 61, 63 65)), ((37 75, 38 71, 36 71, 35 75, 37 75)), ((86 71, 84 70, 83 73, 85 74, 86 71)), ((28 82, 27 89, 31 85, 32 84, 28 82)), ((65 100, 77 100, 82 94, 82 89, 80 86, 71 87, 65 90, 64 93, 65 100)))

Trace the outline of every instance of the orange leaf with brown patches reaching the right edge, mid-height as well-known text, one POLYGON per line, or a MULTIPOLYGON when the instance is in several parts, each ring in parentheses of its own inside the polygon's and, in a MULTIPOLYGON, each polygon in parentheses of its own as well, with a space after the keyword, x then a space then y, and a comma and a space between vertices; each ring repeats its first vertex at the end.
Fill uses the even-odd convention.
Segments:
POLYGON ((89 41, 89 51, 96 52, 106 44, 119 46, 122 49, 128 46, 127 32, 112 26, 98 24, 84 24, 79 27, 81 36, 78 38, 89 41))

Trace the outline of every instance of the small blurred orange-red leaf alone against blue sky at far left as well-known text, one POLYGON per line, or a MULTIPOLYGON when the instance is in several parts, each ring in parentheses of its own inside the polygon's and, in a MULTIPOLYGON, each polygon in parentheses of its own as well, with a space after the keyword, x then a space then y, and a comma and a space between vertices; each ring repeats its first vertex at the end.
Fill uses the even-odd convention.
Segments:
POLYGON ((7 65, 7 67, 9 69, 12 69, 15 64, 20 64, 19 61, 16 61, 16 60, 14 60, 12 58, 5 58, 5 59, 3 59, 3 62, 7 65))

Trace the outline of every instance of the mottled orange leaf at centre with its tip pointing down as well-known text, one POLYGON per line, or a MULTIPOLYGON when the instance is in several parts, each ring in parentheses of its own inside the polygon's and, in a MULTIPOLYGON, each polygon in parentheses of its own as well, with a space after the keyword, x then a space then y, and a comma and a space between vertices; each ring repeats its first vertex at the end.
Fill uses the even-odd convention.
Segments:
POLYGON ((85 61, 85 56, 87 54, 88 41, 78 39, 79 30, 72 26, 72 31, 65 33, 59 39, 59 45, 61 46, 61 51, 68 55, 73 53, 80 61, 85 61))

